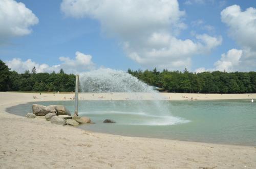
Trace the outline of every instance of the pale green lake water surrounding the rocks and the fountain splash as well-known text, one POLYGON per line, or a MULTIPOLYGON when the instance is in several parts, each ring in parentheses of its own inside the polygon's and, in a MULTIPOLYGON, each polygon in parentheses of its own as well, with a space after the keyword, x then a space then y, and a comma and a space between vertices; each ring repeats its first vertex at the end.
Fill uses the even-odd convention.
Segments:
MULTIPOLYGON (((17 115, 31 112, 31 105, 8 108, 17 115)), ((37 102, 65 105, 74 101, 37 102)), ((256 104, 250 100, 225 101, 80 101, 79 115, 96 124, 78 128, 126 136, 142 136, 211 143, 256 146, 256 104), (111 118, 115 124, 104 124, 111 118)))

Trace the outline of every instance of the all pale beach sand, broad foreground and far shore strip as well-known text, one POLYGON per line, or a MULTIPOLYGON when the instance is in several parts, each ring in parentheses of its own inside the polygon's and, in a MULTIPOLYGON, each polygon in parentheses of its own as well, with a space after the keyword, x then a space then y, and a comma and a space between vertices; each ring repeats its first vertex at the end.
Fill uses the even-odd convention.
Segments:
MULTIPOLYGON (((138 93, 85 94, 83 99, 153 99, 143 94, 144 98, 138 93)), ((255 94, 163 95, 170 100, 184 100, 183 95, 202 100, 256 98, 255 94)), ((0 92, 0 168, 256 168, 255 147, 95 133, 5 112, 17 104, 63 100, 64 96, 68 100, 74 94, 0 92)))

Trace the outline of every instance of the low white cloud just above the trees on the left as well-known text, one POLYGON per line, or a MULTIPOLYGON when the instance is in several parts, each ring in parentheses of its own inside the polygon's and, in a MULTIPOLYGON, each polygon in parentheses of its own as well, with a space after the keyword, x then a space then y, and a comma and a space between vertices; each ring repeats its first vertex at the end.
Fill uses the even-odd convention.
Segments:
POLYGON ((37 73, 52 71, 58 72, 61 68, 65 70, 65 73, 68 74, 76 74, 81 73, 86 70, 94 69, 95 64, 92 62, 91 55, 85 55, 80 52, 76 52, 75 59, 70 59, 69 57, 59 57, 60 64, 49 66, 48 64, 39 64, 33 62, 31 59, 26 61, 22 61, 19 58, 13 58, 12 60, 5 61, 6 64, 11 68, 11 70, 15 70, 18 73, 24 73, 25 70, 30 70, 35 66, 37 73))

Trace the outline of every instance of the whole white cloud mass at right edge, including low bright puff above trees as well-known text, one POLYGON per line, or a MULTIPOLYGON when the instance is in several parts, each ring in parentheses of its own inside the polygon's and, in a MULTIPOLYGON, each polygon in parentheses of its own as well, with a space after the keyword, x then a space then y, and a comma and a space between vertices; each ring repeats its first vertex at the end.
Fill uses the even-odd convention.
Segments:
POLYGON ((255 71, 256 65, 256 9, 247 8, 242 11, 240 6, 232 5, 221 12, 221 20, 228 27, 228 35, 241 47, 222 54, 215 68, 198 68, 196 71, 255 71))

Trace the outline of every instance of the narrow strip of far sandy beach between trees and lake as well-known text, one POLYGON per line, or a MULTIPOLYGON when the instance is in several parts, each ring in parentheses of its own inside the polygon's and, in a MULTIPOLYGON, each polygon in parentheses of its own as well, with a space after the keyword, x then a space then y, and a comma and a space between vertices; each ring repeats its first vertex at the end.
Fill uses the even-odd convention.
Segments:
MULTIPOLYGON (((73 100, 75 93, 21 93, 0 92, 3 103, 73 100), (36 96, 36 99, 33 99, 36 96), (6 99, 5 99, 6 98, 6 99)), ((247 94, 201 94, 201 93, 79 93, 79 100, 231 100, 256 99, 256 93, 247 94)), ((0 103, 1 105, 2 103, 0 103)))

